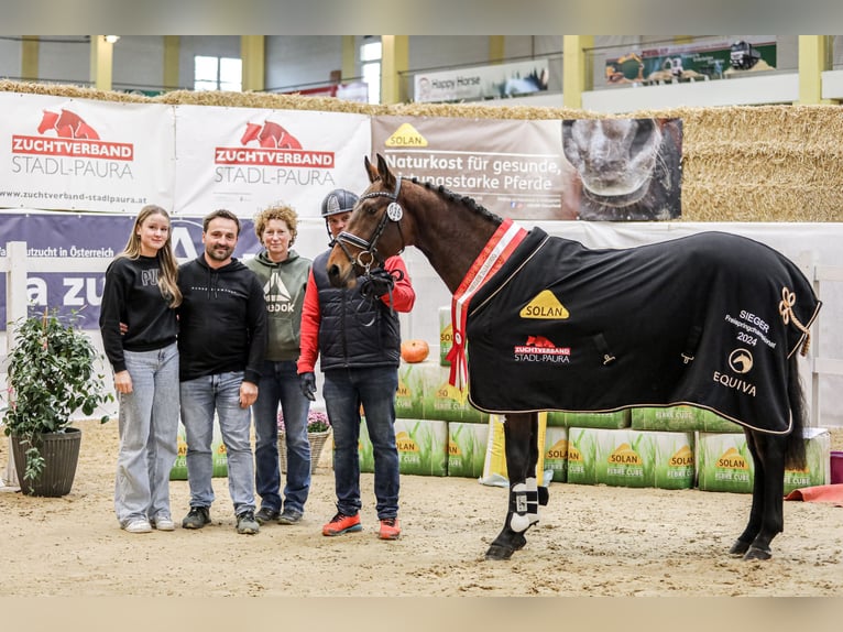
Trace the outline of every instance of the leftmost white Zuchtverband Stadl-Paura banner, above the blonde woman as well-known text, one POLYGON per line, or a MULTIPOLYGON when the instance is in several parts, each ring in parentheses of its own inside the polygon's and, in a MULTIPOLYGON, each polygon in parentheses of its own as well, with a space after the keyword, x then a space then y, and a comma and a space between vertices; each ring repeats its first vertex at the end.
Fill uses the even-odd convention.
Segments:
POLYGON ((0 92, 0 207, 173 208, 169 106, 0 92))

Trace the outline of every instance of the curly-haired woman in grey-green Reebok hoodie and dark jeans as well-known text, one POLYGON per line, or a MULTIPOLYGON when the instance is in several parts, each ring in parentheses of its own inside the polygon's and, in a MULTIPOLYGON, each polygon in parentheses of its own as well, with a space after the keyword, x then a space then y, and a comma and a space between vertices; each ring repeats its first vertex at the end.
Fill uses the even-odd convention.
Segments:
POLYGON ((264 249, 245 262, 263 286, 270 324, 258 401, 252 406, 254 487, 261 497, 261 509, 254 517, 259 524, 271 521, 296 524, 304 515, 310 490, 310 444, 307 439, 310 402, 302 393, 296 374, 302 305, 310 260, 291 250, 296 241, 297 224, 298 216, 288 206, 271 206, 261 211, 254 218, 254 232, 264 249), (287 445, 283 502, 280 493, 278 405, 284 414, 287 445))

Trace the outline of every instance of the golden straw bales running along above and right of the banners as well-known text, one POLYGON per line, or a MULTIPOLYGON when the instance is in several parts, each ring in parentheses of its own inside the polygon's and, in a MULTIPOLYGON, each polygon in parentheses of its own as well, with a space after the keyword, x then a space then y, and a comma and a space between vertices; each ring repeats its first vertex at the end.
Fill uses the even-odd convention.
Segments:
MULTIPOLYGON (((267 92, 195 92, 158 97, 84 86, 0 80, 0 91, 109 101, 198 105, 365 116, 502 120, 609 118, 570 108, 478 103, 369 105, 267 92)), ((682 120, 682 218, 690 221, 843 221, 843 108, 730 106, 669 108, 623 118, 682 120)))

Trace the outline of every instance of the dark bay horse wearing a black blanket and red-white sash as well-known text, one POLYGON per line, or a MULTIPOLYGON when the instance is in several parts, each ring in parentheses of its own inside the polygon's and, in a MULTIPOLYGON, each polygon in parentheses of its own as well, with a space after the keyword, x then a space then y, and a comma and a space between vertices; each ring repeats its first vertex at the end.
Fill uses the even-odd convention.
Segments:
POLYGON ((538 227, 526 231, 444 187, 396 177, 380 154, 376 166, 368 156, 364 165, 370 185, 333 242, 328 275, 332 285, 351 287, 357 275, 414 246, 453 295, 451 377, 460 383, 467 371, 471 404, 505 415, 508 508, 486 559, 508 559, 522 549, 527 530, 538 523, 539 505, 548 502, 547 488, 536 484, 538 412, 678 403, 719 412, 743 426, 755 479, 748 522, 729 551, 744 559, 770 558, 770 542, 784 529, 785 468, 804 467, 806 458, 796 351, 807 352, 821 305, 792 262, 752 239, 721 232, 589 250, 538 227), (522 253, 528 243, 539 246, 522 253), (539 261, 543 249, 557 247, 561 250, 548 251, 550 260, 539 261), (664 276, 656 274, 660 268, 664 276), (681 287, 668 286, 686 272, 698 281, 681 279, 681 287), (527 281, 538 286, 524 294, 527 281), (580 286, 583 292, 577 293, 580 286), (732 286, 740 295, 734 309, 723 305, 732 286), (513 292, 521 298, 511 306, 495 303, 513 292), (764 299, 754 302, 753 292, 764 299), (667 323, 655 309, 665 303, 667 323), (692 309, 696 304, 702 309, 692 309), (646 307, 654 309, 634 320, 646 307), (578 318, 581 314, 585 317, 578 318), (714 323, 696 320, 707 314, 716 317, 714 323), (502 317, 510 320, 501 323, 502 317), (546 356, 548 362, 518 361, 518 346, 529 340, 511 333, 518 317, 534 341, 556 347, 548 353, 530 347, 522 359, 546 356), (618 325, 631 341, 622 340, 618 325), (719 338, 726 339, 725 347, 719 338), (741 352, 726 353, 732 360, 726 366, 721 353, 733 347, 741 352), (515 388, 521 379, 527 380, 524 388, 515 388), (663 386, 659 380, 669 383, 663 386), (769 427, 767 418, 775 419, 769 427))

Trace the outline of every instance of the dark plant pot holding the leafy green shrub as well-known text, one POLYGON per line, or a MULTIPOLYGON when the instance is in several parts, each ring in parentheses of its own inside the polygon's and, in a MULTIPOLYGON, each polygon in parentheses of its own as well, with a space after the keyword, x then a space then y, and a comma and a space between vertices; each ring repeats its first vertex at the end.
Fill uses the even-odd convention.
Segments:
POLYGON ((57 498, 70 492, 76 476, 76 465, 79 462, 80 429, 65 428, 63 433, 36 436, 35 443, 45 464, 41 476, 34 481, 24 479, 29 446, 21 445, 20 438, 15 435, 11 438, 14 469, 23 493, 57 498))

